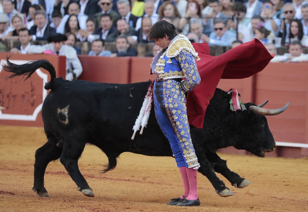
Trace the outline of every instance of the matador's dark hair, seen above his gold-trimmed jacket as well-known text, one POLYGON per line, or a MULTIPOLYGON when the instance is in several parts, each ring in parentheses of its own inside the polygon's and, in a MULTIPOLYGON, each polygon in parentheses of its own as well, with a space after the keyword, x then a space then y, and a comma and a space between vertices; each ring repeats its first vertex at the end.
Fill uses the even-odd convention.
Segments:
POLYGON ((163 38, 165 34, 168 35, 169 40, 172 40, 179 32, 176 30, 175 26, 168 21, 157 21, 149 30, 148 40, 151 41, 163 38))

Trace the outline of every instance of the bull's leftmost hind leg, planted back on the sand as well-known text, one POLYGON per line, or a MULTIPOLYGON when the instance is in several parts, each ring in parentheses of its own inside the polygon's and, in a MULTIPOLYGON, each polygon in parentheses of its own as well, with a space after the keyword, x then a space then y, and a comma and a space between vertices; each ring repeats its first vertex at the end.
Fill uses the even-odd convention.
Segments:
POLYGON ((49 197, 44 187, 44 175, 48 163, 59 159, 61 155, 62 148, 57 147, 58 141, 55 137, 48 137, 47 143, 35 151, 34 185, 32 189, 40 197, 49 197))

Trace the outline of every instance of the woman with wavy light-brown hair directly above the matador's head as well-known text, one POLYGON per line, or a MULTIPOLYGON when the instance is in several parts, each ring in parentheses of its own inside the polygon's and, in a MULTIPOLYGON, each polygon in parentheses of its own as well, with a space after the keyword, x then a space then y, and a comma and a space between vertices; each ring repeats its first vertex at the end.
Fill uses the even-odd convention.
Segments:
POLYGON ((173 24, 177 29, 179 28, 179 22, 181 15, 173 5, 172 1, 165 1, 158 10, 159 20, 165 20, 173 24))

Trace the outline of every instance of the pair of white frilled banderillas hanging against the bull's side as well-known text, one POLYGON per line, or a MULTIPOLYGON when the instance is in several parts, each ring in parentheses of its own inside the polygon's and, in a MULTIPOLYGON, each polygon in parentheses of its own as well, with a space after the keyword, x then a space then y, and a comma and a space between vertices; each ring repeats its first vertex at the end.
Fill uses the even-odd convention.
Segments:
POLYGON ((144 101, 142 103, 142 107, 140 109, 140 113, 136 119, 135 125, 133 126, 134 133, 132 135, 132 140, 134 140, 136 132, 140 129, 140 135, 143 133, 144 127, 148 124, 148 119, 150 116, 151 108, 152 108, 152 102, 153 102, 153 86, 154 81, 152 81, 151 85, 148 87, 148 92, 145 95, 144 101))

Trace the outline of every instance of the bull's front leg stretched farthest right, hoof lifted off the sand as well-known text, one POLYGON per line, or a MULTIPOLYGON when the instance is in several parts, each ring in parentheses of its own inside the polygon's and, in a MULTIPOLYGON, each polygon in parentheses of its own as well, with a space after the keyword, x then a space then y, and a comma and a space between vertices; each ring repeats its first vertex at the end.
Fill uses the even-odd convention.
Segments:
POLYGON ((240 177, 237 173, 232 172, 227 167, 227 161, 222 160, 216 152, 206 152, 205 156, 213 164, 214 171, 223 175, 234 187, 245 188, 251 183, 251 181, 248 181, 245 178, 240 177))

